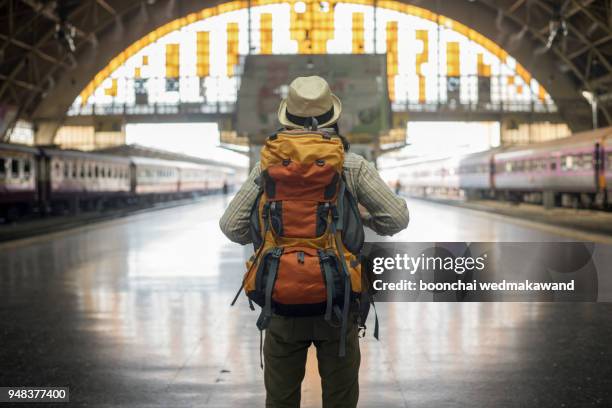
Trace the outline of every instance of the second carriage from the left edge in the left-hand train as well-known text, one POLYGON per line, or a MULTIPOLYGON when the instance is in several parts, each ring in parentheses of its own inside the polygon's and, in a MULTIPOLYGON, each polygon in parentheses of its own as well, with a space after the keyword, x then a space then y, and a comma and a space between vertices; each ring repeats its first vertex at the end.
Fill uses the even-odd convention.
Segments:
POLYGON ((42 148, 40 198, 54 213, 118 206, 130 195, 130 160, 42 148))

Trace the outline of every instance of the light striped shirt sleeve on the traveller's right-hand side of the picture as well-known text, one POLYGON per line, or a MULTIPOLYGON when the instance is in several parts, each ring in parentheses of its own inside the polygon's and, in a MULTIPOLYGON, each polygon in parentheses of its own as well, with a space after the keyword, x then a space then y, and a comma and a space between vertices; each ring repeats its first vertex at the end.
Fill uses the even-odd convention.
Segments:
POLYGON ((406 200, 391 191, 373 163, 361 160, 355 186, 357 201, 370 216, 364 224, 379 235, 393 235, 408 226, 410 216, 406 200))

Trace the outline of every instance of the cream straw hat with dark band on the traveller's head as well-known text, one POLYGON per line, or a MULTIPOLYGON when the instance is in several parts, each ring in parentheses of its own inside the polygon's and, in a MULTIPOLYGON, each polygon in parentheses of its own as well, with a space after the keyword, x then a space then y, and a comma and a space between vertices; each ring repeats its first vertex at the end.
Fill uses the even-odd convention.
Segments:
POLYGON ((342 103, 319 76, 297 77, 289 85, 287 98, 278 108, 278 120, 285 127, 304 127, 308 118, 315 118, 324 128, 338 121, 342 103))

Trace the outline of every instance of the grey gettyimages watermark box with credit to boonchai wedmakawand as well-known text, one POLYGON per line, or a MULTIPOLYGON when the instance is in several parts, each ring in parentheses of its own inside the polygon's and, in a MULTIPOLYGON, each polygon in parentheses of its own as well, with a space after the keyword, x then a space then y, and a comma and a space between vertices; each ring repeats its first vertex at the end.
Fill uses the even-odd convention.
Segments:
POLYGON ((379 301, 611 301, 612 246, 558 243, 367 243, 379 301))

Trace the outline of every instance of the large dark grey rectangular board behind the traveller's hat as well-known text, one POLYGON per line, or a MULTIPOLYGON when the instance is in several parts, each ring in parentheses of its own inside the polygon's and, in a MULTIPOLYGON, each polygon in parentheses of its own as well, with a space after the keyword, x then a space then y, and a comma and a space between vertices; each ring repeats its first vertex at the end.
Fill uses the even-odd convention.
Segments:
POLYGON ((236 130, 259 144, 280 126, 278 106, 298 76, 325 78, 342 101, 340 131, 372 143, 390 127, 385 55, 251 55, 238 91, 236 130))

